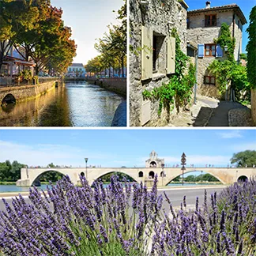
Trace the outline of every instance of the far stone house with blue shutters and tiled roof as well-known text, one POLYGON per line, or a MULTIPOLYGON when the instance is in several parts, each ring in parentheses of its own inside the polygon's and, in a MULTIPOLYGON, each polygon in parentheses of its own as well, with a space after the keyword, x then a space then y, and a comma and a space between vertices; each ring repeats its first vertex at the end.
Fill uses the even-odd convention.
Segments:
MULTIPOLYGON (((216 77, 209 73, 208 66, 214 59, 225 59, 225 49, 216 45, 214 40, 220 36, 221 24, 230 27, 232 37, 235 38, 235 61, 240 61, 242 53, 243 25, 247 23, 242 10, 236 4, 211 7, 207 1, 203 9, 187 12, 187 40, 198 45, 198 94, 204 96, 223 97, 218 93, 216 77)), ((226 92, 226 100, 230 95, 226 92)))

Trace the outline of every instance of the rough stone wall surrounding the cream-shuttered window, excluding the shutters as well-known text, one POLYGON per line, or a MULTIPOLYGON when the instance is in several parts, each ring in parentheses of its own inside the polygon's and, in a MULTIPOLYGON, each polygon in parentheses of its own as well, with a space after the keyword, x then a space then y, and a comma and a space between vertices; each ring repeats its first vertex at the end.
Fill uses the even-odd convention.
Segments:
MULTIPOLYGON (((160 63, 162 73, 153 73, 152 78, 141 81, 142 25, 165 36, 164 43, 171 36, 171 30, 176 28, 181 48, 186 53, 186 4, 176 0, 152 0, 148 6, 140 6, 139 1, 130 0, 130 126, 164 126, 175 115, 175 110, 169 113, 163 109, 159 116, 159 102, 144 100, 142 92, 168 83, 169 75, 162 69, 166 63, 160 63)), ((164 55, 165 48, 161 51, 161 56, 164 55)))

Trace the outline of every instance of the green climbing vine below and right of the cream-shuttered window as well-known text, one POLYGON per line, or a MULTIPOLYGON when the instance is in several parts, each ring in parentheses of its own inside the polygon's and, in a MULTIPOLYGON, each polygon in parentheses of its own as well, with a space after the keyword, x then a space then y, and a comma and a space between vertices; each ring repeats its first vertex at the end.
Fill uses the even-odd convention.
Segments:
POLYGON ((160 115, 163 107, 171 111, 172 104, 175 103, 177 110, 188 104, 191 100, 192 88, 196 83, 195 67, 190 63, 188 72, 185 70, 189 57, 186 56, 180 48, 180 39, 176 29, 173 29, 171 36, 175 37, 175 74, 171 76, 168 84, 163 84, 152 91, 145 90, 142 92, 144 99, 159 100, 158 114, 160 115))

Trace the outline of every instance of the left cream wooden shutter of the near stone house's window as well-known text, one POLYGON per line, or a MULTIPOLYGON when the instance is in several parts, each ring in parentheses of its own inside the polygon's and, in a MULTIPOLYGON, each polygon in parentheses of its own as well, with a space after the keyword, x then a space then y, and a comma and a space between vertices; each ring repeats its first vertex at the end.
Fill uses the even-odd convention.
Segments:
POLYGON ((152 78, 152 30, 141 26, 141 80, 152 78))

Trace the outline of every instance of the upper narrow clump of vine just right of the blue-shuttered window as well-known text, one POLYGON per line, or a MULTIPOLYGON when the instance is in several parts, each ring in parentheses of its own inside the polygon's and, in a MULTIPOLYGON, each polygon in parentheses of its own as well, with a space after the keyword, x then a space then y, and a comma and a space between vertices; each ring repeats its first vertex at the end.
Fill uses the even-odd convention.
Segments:
POLYGON ((235 38, 232 37, 227 23, 221 24, 220 37, 216 40, 216 43, 219 43, 222 49, 224 49, 225 46, 228 46, 228 59, 232 61, 234 59, 235 38))

